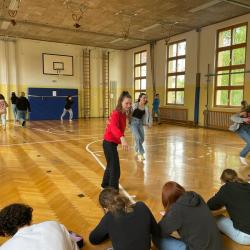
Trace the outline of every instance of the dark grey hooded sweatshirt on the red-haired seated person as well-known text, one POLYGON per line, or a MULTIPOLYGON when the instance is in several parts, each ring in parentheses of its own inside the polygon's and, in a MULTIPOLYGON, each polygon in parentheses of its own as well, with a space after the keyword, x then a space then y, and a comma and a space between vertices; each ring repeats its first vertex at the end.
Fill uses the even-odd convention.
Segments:
POLYGON ((162 237, 178 231, 188 250, 222 250, 222 240, 206 203, 195 192, 185 192, 159 222, 162 237))

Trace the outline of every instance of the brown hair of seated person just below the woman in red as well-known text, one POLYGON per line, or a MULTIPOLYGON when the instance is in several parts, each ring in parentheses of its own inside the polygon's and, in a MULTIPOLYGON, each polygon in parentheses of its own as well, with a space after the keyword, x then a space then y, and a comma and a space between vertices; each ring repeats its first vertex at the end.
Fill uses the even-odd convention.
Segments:
POLYGON ((112 214, 130 213, 133 211, 132 204, 124 195, 119 194, 114 188, 106 188, 99 195, 99 203, 112 214))

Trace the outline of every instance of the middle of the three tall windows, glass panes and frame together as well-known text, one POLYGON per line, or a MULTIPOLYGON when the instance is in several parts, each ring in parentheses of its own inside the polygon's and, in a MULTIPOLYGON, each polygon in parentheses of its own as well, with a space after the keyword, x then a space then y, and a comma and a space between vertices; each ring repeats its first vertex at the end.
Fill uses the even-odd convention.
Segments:
POLYGON ((167 104, 184 104, 186 41, 168 45, 167 104))

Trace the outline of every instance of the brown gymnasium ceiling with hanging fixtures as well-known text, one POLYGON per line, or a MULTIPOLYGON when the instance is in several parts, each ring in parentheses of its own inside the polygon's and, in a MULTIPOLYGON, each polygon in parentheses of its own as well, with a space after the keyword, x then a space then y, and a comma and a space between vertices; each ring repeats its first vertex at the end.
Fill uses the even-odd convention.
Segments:
POLYGON ((22 0, 12 18, 8 9, 16 1, 0 1, 1 36, 112 49, 134 48, 250 12, 249 0, 22 0))

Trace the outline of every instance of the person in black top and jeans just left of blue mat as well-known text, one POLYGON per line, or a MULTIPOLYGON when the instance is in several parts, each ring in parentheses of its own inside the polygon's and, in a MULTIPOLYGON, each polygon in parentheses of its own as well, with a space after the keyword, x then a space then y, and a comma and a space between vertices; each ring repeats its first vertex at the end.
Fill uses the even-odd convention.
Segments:
POLYGON ((18 120, 20 124, 22 125, 22 127, 25 127, 27 110, 31 112, 31 108, 30 108, 30 103, 28 99, 25 97, 24 92, 22 92, 21 96, 17 98, 16 107, 17 107, 18 120))

